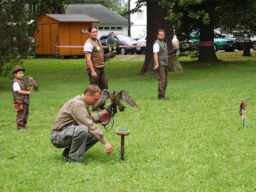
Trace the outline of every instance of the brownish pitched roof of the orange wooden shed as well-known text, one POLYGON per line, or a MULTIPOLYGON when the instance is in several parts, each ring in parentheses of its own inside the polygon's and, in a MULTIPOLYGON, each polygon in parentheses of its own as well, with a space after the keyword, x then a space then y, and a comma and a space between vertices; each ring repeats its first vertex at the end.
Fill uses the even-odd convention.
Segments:
MULTIPOLYGON (((99 22, 99 20, 94 19, 85 14, 44 14, 47 17, 51 17, 52 19, 58 20, 60 22, 99 22)), ((43 15, 43 16, 44 16, 43 15)), ((42 16, 42 17, 43 17, 42 16)), ((38 18, 41 19, 42 17, 38 18)))

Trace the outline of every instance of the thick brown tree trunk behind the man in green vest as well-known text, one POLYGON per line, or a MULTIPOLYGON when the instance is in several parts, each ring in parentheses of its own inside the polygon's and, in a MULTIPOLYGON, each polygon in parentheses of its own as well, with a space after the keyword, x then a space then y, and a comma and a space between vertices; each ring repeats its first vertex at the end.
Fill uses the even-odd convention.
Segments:
MULTIPOLYGON (((172 20, 165 20, 167 17, 167 8, 163 8, 158 5, 159 1, 147 0, 147 47, 144 65, 140 70, 140 74, 154 73, 154 58, 153 58, 153 44, 157 39, 158 29, 164 29, 164 42, 167 44, 167 49, 171 50, 173 32, 173 22, 172 20)), ((176 56, 172 56, 169 60, 169 71, 175 71, 175 69, 181 69, 176 56), (172 65, 170 65, 172 64, 172 65), (170 67, 173 66, 173 67, 170 67), (173 68, 173 70, 171 70, 173 68)), ((183 69, 183 68, 182 68, 183 69)), ((184 69, 183 69, 184 70, 184 69)), ((182 70, 181 70, 182 71, 182 70)))

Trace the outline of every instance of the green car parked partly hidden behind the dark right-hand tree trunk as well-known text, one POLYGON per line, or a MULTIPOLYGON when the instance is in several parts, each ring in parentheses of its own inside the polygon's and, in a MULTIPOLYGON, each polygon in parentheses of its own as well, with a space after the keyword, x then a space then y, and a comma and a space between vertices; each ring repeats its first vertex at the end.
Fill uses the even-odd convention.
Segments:
MULTIPOLYGON (((199 39, 199 32, 193 31, 189 35, 191 41, 194 43, 198 42, 199 39)), ((214 51, 217 52, 218 50, 224 51, 233 51, 236 48, 235 40, 229 38, 214 38, 214 51)), ((198 45, 196 45, 196 49, 199 49, 198 45)))

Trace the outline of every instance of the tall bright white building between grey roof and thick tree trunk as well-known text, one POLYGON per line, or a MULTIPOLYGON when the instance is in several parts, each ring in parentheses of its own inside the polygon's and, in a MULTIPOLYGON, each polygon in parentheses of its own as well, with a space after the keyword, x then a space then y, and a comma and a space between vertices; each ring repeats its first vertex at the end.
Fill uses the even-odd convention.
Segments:
MULTIPOLYGON (((130 1, 130 9, 135 8, 137 0, 130 1)), ((131 37, 144 37, 147 35, 147 6, 140 8, 141 12, 136 12, 130 15, 131 22, 131 37)), ((97 18, 96 18, 97 19, 97 18)))

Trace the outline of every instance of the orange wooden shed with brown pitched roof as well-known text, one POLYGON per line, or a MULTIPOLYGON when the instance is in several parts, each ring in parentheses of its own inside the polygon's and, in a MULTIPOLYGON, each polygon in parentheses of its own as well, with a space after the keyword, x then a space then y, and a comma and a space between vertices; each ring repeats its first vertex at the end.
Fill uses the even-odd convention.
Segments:
MULTIPOLYGON (((37 20, 37 56, 54 55, 56 41, 57 45, 84 45, 89 37, 89 27, 100 22, 85 14, 44 14, 37 20)), ((84 48, 57 48, 59 56, 83 54, 84 48)))

